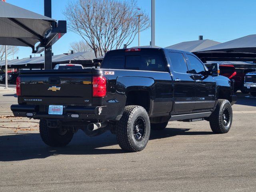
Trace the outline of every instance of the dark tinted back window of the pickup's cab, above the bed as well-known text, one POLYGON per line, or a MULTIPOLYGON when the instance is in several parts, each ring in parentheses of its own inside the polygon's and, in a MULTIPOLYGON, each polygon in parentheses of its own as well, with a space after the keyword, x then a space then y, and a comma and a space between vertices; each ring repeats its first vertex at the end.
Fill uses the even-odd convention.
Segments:
POLYGON ((162 53, 143 49, 135 52, 110 51, 106 54, 101 68, 165 71, 162 53))

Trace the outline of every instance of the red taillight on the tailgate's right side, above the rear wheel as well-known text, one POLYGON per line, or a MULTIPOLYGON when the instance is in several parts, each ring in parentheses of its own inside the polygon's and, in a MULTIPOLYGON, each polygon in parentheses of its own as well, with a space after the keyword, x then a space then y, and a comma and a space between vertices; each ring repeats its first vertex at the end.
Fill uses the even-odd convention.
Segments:
POLYGON ((107 79, 106 77, 97 76, 92 79, 92 96, 104 97, 107 93, 107 79))

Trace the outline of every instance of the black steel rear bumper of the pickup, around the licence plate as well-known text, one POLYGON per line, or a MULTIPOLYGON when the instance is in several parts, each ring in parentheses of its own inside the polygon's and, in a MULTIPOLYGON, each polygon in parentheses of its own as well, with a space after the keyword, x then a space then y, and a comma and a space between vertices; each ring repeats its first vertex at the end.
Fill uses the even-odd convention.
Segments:
POLYGON ((62 115, 49 115, 47 108, 42 111, 38 105, 12 105, 11 110, 14 116, 34 119, 104 120, 107 115, 106 106, 65 106, 62 115))

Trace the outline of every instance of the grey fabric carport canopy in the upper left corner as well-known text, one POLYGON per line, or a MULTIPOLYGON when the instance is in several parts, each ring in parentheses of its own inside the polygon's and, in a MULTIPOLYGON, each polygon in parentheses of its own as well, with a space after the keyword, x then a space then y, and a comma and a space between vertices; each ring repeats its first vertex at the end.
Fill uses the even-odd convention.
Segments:
POLYGON ((28 46, 34 49, 36 43, 56 20, 0 1, 0 44, 28 46))

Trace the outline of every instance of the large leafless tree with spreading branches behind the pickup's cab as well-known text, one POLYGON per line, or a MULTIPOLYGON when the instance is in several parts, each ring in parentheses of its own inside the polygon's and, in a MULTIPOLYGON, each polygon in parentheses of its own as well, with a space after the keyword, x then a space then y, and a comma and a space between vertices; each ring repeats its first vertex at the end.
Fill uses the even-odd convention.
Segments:
POLYGON ((138 9, 136 0, 70 0, 64 10, 68 29, 79 34, 95 56, 129 46, 140 31, 150 27, 148 14, 138 9))

